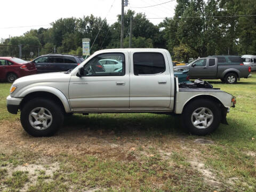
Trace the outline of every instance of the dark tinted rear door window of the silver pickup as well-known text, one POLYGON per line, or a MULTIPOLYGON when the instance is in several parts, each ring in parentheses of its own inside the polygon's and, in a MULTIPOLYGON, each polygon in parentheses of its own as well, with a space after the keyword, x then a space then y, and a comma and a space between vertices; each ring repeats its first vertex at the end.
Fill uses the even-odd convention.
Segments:
POLYGON ((154 75, 165 71, 165 62, 161 53, 134 53, 134 75, 154 75))

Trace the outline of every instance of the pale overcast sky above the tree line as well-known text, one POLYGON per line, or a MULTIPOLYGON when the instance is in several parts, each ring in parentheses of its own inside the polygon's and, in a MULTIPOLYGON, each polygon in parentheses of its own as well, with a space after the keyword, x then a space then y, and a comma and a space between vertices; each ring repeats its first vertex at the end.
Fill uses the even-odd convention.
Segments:
MULTIPOLYGON (((124 7, 124 11, 131 9, 136 13, 145 13, 147 18, 157 25, 163 19, 151 18, 174 15, 177 3, 175 0, 168 1, 170 0, 129 0, 129 5, 124 7), (157 6, 141 8, 151 5, 157 6)), ((108 23, 112 24, 117 21, 117 15, 121 14, 121 3, 122 0, 2 0, 0 39, 23 35, 30 29, 49 28, 51 22, 60 18, 82 18, 84 15, 93 14, 106 18, 108 23)))

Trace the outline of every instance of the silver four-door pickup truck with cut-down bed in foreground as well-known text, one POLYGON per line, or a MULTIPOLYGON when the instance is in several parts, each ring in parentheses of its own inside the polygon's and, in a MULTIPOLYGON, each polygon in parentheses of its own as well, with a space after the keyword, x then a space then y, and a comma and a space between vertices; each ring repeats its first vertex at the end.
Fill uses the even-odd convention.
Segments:
POLYGON ((72 113, 180 114, 190 133, 204 135, 227 124, 235 103, 233 95, 206 82, 179 85, 167 50, 112 49, 95 52, 73 70, 17 79, 7 110, 20 110, 23 128, 35 137, 57 132, 72 113), (106 71, 102 59, 122 66, 106 71))

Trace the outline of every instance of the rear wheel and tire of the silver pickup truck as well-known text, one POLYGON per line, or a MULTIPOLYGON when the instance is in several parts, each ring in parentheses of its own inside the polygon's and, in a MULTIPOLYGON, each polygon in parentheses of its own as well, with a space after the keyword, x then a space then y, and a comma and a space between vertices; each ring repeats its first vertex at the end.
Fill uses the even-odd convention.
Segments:
POLYGON ((182 125, 188 132, 206 135, 218 128, 221 111, 216 102, 210 99, 197 99, 189 102, 183 109, 182 120, 182 125))

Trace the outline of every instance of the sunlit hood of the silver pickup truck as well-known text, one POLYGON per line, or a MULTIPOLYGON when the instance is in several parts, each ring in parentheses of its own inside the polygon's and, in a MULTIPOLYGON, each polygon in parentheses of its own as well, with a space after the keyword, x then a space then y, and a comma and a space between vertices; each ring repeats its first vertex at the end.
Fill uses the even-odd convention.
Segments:
POLYGON ((65 74, 64 72, 57 73, 44 73, 36 75, 28 75, 25 77, 18 78, 13 84, 24 84, 24 83, 43 83, 43 82, 68 82, 71 74, 65 74))

